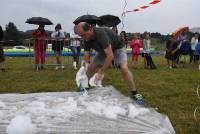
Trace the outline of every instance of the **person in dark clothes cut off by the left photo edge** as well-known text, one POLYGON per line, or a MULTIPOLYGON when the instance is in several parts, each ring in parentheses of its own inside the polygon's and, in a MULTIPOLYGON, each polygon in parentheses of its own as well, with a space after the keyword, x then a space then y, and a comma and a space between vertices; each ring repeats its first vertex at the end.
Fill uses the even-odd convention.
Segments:
POLYGON ((2 72, 5 72, 5 57, 4 57, 4 51, 3 51, 3 29, 0 26, 0 68, 2 72))

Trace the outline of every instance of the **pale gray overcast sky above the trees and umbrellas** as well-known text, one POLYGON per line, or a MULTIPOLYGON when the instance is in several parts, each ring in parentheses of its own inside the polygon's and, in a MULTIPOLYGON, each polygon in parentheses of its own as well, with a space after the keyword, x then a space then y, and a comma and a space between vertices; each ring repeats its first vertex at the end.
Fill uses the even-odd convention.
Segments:
MULTIPOLYGON (((148 5, 152 0, 126 0, 126 10, 148 5)), ((162 0, 157 5, 126 14, 123 30, 127 32, 172 33, 181 26, 200 26, 200 0, 162 0)), ((124 0, 1 0, 0 25, 5 29, 8 22, 14 22, 19 30, 37 28, 26 24, 30 17, 49 18, 54 25, 46 26, 54 30, 61 23, 63 30, 71 32, 73 21, 84 14, 113 14, 121 17, 124 0)), ((118 25, 121 30, 122 25, 118 25)))

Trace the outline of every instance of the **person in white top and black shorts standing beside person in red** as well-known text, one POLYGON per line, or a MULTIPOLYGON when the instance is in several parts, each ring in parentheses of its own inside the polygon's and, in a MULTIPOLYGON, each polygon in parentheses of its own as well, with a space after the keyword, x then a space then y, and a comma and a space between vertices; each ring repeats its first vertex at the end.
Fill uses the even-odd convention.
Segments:
POLYGON ((53 38, 52 49, 56 55, 56 68, 55 68, 56 70, 65 68, 61 62, 61 55, 64 45, 65 34, 63 31, 61 31, 61 29, 62 29, 61 24, 57 24, 55 26, 55 31, 51 34, 51 37, 53 38))

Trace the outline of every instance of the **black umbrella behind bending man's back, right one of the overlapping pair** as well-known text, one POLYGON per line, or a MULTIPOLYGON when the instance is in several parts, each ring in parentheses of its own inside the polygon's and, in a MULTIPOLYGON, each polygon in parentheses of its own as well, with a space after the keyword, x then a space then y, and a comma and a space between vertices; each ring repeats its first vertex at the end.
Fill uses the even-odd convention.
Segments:
POLYGON ((119 19, 119 17, 114 16, 114 15, 102 15, 99 17, 102 20, 102 25, 105 25, 107 27, 114 27, 117 26, 121 20, 119 19))

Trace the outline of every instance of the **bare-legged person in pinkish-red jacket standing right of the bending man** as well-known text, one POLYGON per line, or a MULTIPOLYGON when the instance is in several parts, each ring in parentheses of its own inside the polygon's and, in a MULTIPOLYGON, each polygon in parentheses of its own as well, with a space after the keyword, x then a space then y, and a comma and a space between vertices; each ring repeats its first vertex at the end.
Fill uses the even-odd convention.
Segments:
POLYGON ((132 48, 132 66, 136 67, 139 60, 140 48, 142 47, 142 41, 138 38, 137 34, 134 34, 130 42, 130 47, 132 48))

